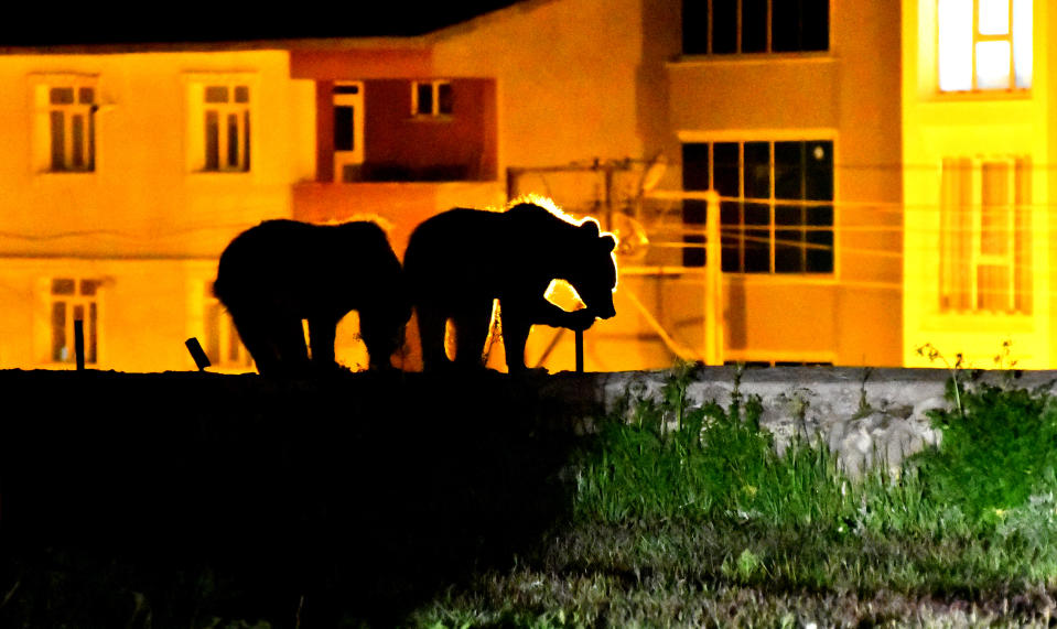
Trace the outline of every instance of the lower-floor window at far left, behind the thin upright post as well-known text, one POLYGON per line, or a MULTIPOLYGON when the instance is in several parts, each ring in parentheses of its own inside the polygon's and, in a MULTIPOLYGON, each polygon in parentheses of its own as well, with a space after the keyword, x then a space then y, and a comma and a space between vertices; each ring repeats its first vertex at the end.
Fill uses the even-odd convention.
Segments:
POLYGON ((52 280, 52 361, 74 362, 76 360, 75 321, 83 322, 84 326, 85 364, 95 365, 98 361, 99 288, 98 280, 73 278, 52 280))

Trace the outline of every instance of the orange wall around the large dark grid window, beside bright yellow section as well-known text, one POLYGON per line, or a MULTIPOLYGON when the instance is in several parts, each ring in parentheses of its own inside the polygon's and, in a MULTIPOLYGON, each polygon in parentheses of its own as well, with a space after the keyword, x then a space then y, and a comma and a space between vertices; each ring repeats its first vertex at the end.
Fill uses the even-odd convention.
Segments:
MULTIPOLYGON (((749 46, 746 32, 737 41, 752 52, 737 54, 734 33, 714 26, 711 45, 723 43, 722 54, 710 53, 705 33, 699 33, 687 44, 695 54, 668 64, 669 151, 679 155, 687 147, 684 158, 692 149, 705 164, 709 159, 713 164, 733 159, 735 169, 743 164, 733 189, 721 194, 738 196, 737 177, 763 167, 762 189, 745 187, 744 197, 764 198, 766 206, 768 186, 777 196, 781 176, 773 165, 768 181, 767 164, 777 164, 781 151, 799 142, 807 142, 809 163, 832 164, 832 192, 819 197, 832 199, 832 239, 818 249, 832 251, 831 264, 819 265, 820 272, 755 272, 741 262, 740 272, 725 273, 727 359, 839 365, 898 365, 902 359, 899 17, 883 2, 829 6, 828 44, 815 46, 823 50, 786 51, 777 34, 766 45, 761 40, 749 46), (721 158, 721 149, 732 158, 721 158), (749 159, 749 149, 762 156, 749 159)), ((695 24, 690 15, 686 20, 684 28, 695 24)), ((700 18, 698 24, 703 23, 700 18)), ((817 31, 816 36, 826 33, 817 31)), ((714 170, 713 186, 720 187, 720 175, 714 170)), ((730 206, 732 214, 737 205, 730 206)), ((749 215, 743 220, 747 224, 749 215)), ((733 227, 727 234, 740 232, 733 227)), ((759 234, 775 242, 777 270, 781 230, 764 225, 759 234)))

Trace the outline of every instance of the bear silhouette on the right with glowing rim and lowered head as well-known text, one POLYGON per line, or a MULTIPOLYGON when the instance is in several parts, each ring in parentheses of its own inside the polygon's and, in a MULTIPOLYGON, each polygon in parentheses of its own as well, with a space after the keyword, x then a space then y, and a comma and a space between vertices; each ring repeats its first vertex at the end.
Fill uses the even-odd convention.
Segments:
POLYGON ((403 269, 418 313, 427 370, 451 361, 444 349, 449 319, 455 328, 455 365, 479 367, 494 300, 507 370, 525 370, 525 344, 533 324, 586 329, 616 314, 616 240, 598 224, 580 224, 535 203, 506 212, 454 208, 416 227, 403 269), (553 280, 569 282, 586 308, 567 312, 547 301, 553 280))

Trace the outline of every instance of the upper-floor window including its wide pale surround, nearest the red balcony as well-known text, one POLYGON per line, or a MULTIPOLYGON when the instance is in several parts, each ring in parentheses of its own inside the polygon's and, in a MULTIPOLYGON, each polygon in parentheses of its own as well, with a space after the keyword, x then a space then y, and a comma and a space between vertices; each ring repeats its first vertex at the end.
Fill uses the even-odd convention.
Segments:
POLYGON ((254 73, 188 73, 184 76, 187 94, 187 165, 193 173, 237 175, 254 171, 258 144, 259 79, 254 73), (226 88, 224 102, 208 102, 211 88, 226 88), (245 94, 240 102, 237 94, 245 94), (217 124, 216 163, 209 160, 208 117, 217 124), (234 122, 235 139, 230 127, 234 122), (229 159, 234 149, 236 159, 229 159))

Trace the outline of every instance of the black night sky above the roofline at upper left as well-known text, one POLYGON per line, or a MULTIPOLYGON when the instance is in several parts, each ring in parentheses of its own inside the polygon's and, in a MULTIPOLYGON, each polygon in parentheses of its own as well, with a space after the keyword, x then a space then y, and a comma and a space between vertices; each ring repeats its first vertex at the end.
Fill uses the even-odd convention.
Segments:
POLYGON ((115 7, 29 0, 20 4, 18 17, 0 20, 0 46, 417 35, 516 1, 280 0, 235 4, 192 0, 115 7), (25 14, 21 14, 23 10, 25 14))

